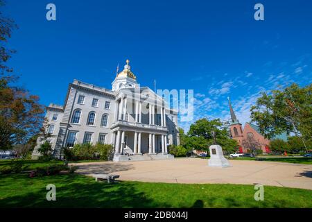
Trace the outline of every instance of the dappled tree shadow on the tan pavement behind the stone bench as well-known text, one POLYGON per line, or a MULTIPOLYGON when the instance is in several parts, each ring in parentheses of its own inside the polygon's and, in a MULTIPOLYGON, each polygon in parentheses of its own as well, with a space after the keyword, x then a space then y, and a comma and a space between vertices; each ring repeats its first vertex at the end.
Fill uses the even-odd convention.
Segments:
POLYGON ((132 164, 116 164, 116 163, 105 163, 105 164, 85 164, 77 165, 77 173, 87 175, 92 173, 113 173, 119 171, 128 171, 135 169, 132 164))

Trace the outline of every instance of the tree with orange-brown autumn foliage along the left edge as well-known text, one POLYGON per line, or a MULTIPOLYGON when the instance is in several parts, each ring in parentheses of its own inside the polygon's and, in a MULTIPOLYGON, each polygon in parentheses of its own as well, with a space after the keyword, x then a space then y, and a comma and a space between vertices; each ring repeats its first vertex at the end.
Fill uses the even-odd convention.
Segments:
MULTIPOLYGON (((0 7, 4 2, 0 0, 0 7)), ((25 144, 38 133, 43 120, 44 109, 38 103, 39 97, 29 94, 26 89, 15 87, 17 80, 12 68, 6 65, 14 50, 6 49, 12 30, 17 28, 12 19, 0 12, 0 148, 11 148, 25 144)))

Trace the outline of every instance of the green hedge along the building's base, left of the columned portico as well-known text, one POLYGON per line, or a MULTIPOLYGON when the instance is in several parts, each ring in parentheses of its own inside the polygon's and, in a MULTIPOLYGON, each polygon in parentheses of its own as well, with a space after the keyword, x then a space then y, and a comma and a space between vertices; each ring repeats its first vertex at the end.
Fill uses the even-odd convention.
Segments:
POLYGON ((76 144, 64 148, 65 160, 109 160, 113 146, 110 144, 76 144))

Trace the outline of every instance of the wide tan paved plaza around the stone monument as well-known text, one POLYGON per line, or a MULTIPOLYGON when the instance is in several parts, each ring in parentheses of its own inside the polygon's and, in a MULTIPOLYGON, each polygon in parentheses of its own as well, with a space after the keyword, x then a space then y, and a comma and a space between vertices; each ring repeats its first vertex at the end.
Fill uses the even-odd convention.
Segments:
POLYGON ((231 183, 312 189, 312 165, 229 160, 232 167, 207 167, 207 160, 177 158, 140 162, 93 162, 73 164, 77 173, 114 173, 120 180, 171 183, 231 183))

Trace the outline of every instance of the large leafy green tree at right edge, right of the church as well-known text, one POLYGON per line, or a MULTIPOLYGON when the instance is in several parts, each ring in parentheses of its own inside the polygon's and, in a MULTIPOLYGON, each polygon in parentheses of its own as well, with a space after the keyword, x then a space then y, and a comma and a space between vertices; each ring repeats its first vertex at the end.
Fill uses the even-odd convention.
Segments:
POLYGON ((261 93, 252 106, 251 119, 259 126, 260 133, 271 139, 275 135, 294 133, 304 140, 312 138, 312 84, 299 87, 293 84, 284 90, 261 93))

